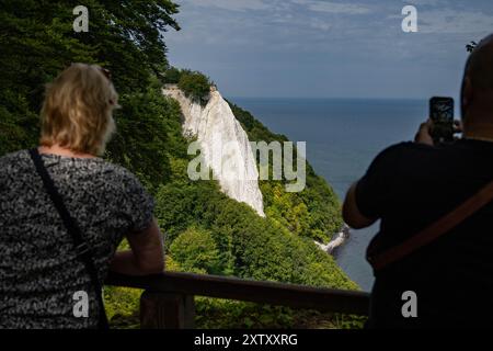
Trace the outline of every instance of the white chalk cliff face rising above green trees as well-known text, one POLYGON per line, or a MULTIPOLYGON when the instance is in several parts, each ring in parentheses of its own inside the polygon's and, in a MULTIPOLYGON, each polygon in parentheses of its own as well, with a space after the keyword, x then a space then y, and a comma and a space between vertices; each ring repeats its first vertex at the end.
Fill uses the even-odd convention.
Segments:
POLYGON ((186 98, 176 86, 167 86, 163 93, 180 103, 183 133, 197 137, 204 163, 213 170, 221 191, 265 217, 250 141, 221 94, 213 88, 207 104, 200 105, 186 98))

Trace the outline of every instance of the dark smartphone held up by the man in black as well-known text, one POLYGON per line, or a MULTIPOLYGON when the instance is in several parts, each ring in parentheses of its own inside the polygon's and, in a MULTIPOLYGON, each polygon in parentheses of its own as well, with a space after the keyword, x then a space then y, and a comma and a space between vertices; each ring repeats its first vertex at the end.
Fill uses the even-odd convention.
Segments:
POLYGON ((432 137, 435 144, 454 141, 454 99, 429 99, 429 118, 433 121, 432 137))

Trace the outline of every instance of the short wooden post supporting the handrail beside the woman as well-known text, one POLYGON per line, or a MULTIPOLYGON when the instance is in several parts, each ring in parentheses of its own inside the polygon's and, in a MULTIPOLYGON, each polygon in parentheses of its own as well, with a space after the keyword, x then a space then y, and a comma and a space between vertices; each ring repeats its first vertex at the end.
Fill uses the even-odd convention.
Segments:
POLYGON ((140 296, 141 329, 193 329, 194 296, 144 292, 140 296))

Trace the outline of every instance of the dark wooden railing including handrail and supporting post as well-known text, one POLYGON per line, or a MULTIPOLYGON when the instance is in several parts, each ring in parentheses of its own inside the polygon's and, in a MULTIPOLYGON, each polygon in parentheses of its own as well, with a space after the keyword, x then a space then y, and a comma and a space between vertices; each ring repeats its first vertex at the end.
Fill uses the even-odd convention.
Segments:
POLYGON ((194 296, 362 316, 368 314, 369 306, 368 293, 357 291, 191 273, 167 272, 149 276, 111 273, 106 285, 145 290, 140 297, 140 327, 145 329, 194 328, 194 296))

